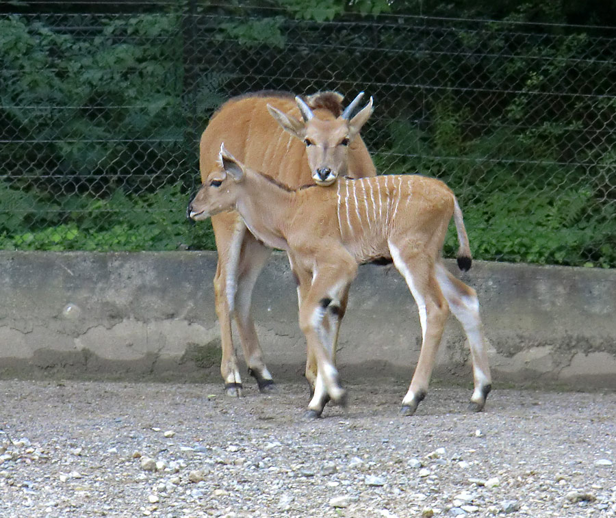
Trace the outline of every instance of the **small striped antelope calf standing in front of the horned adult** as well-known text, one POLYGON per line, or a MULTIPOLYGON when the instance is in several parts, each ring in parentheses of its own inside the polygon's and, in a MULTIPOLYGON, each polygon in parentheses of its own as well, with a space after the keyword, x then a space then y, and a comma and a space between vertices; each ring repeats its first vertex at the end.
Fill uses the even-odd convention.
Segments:
POLYGON ((483 409, 491 378, 479 303, 474 289, 452 277, 441 261, 454 217, 458 263, 470 266, 470 248, 454 194, 441 181, 418 175, 338 179, 330 187, 292 190, 244 166, 225 148, 190 203, 194 220, 235 209, 248 229, 268 246, 286 250, 294 273, 309 285, 300 300, 300 328, 316 358, 317 378, 307 415, 318 417, 331 400, 343 402, 334 361, 337 326, 357 265, 393 259, 417 302, 422 347, 402 413, 411 415, 426 396, 448 307, 462 323, 472 353, 472 409, 483 409), (449 301, 449 304, 448 304, 449 301))

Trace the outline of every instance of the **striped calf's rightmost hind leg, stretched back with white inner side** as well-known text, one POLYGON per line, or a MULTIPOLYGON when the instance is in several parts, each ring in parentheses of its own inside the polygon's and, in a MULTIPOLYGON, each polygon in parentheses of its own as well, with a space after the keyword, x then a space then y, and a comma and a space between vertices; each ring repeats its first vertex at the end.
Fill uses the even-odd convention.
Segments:
POLYGON ((490 393, 491 375, 487 357, 487 341, 479 315, 479 299, 472 287, 454 277, 441 263, 436 267, 437 280, 454 317, 462 324, 468 339, 473 363, 474 391, 469 410, 479 412, 490 393))

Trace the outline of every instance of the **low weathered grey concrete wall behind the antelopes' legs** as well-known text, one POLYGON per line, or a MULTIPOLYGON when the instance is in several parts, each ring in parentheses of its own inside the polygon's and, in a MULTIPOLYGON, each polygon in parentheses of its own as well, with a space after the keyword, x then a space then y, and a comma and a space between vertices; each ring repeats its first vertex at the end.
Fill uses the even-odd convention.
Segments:
MULTIPOLYGON (((215 269, 215 252, 0 252, 0 376, 216 379, 215 269)), ((496 384, 616 388, 615 270, 476 261, 462 279, 479 294, 496 384)), ((299 376, 305 342, 284 255, 254 302, 274 377, 299 376)), ((398 272, 362 266, 340 335, 343 378, 410 381, 420 337, 398 272)), ((471 380, 453 317, 435 377, 471 380)))

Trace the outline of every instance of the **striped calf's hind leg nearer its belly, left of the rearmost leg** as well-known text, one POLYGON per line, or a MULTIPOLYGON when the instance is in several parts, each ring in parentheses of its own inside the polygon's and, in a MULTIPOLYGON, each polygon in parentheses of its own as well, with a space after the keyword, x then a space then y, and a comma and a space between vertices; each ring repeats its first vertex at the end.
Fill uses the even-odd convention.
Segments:
POLYGON ((448 305, 439 288, 432 259, 417 253, 405 255, 396 246, 389 246, 394 265, 407 281, 415 298, 422 325, 420 357, 400 409, 402 415, 413 415, 428 393, 428 384, 447 320, 448 305))

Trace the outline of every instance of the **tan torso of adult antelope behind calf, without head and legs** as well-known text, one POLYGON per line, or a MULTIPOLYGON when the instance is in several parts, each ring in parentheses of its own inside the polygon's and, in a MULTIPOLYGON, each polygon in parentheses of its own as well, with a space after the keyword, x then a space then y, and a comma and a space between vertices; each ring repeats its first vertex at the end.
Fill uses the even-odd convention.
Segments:
MULTIPOLYGON (((310 96, 308 103, 316 118, 335 120, 342 107, 336 107, 335 96, 326 99, 327 102, 320 103, 318 96, 310 96)), ((294 118, 302 118, 294 96, 285 92, 255 92, 230 99, 218 109, 201 135, 201 181, 216 168, 220 144, 224 142, 246 166, 267 171, 289 187, 314 183, 306 145, 280 127, 268 112, 268 104, 294 118)), ((370 153, 357 135, 349 146, 348 175, 359 178, 375 174, 370 153)))

